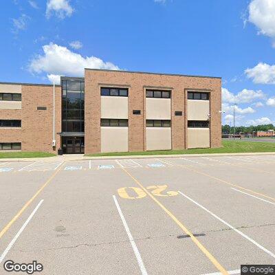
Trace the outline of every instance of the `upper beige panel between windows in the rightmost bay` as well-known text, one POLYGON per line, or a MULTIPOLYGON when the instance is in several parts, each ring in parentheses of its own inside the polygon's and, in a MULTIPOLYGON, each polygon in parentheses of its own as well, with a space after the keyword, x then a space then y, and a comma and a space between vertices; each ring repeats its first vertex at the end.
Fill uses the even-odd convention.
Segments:
POLYGON ((209 100, 187 100, 188 120, 208 120, 209 100))

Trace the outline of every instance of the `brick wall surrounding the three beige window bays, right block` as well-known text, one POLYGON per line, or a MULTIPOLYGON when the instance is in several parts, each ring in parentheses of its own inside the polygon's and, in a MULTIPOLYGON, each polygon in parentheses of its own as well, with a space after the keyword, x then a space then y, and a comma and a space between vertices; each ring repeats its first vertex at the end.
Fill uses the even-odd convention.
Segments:
POLYGON ((146 150, 145 87, 172 90, 172 148, 186 148, 188 89, 210 91, 210 145, 221 146, 221 79, 85 69, 85 153, 100 152, 100 85, 129 86, 129 151, 146 150), (142 115, 133 115, 140 109, 142 115), (183 116, 175 116, 183 111, 183 116))

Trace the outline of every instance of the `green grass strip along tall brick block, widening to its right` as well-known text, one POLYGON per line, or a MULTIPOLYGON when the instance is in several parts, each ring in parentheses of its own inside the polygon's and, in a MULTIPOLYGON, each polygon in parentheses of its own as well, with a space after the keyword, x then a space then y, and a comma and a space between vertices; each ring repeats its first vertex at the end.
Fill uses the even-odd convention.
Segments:
POLYGON ((275 142, 242 142, 223 140, 221 148, 201 148, 188 150, 166 150, 147 152, 122 152, 122 153, 98 153, 88 154, 89 157, 96 156, 119 156, 119 155, 179 155, 179 154, 208 154, 208 153, 256 153, 275 152, 275 142))

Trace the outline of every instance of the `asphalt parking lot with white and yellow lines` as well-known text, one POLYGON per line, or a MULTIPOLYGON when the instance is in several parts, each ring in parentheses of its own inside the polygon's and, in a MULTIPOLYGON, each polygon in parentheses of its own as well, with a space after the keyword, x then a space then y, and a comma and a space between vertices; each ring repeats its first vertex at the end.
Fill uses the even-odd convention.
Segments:
POLYGON ((0 162, 0 274, 23 274, 7 260, 47 275, 274 264, 274 176, 275 155, 0 162))

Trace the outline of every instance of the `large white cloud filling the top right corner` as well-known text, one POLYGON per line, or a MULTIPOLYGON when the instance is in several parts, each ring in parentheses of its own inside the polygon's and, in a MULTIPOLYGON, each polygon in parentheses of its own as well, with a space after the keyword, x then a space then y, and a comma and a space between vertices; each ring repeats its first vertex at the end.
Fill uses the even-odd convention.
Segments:
POLYGON ((252 0, 248 5, 248 21, 256 25, 258 34, 275 38, 275 1, 252 0))

